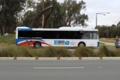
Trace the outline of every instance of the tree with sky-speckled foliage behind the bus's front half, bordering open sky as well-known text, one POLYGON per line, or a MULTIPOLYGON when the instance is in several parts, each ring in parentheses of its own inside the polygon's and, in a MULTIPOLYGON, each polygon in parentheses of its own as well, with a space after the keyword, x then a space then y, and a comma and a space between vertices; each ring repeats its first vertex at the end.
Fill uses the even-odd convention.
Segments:
POLYGON ((81 10, 85 10, 84 1, 77 3, 76 0, 65 0, 62 4, 62 10, 64 11, 63 24, 64 26, 87 26, 85 20, 88 20, 88 16, 81 14, 81 10))

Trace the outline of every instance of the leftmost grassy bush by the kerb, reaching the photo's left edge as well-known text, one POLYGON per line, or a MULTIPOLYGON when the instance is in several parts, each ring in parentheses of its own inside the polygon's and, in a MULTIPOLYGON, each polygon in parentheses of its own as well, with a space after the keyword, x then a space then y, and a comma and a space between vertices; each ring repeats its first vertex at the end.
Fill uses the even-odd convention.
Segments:
POLYGON ((33 57, 36 56, 32 48, 25 46, 8 46, 0 49, 0 57, 33 57))

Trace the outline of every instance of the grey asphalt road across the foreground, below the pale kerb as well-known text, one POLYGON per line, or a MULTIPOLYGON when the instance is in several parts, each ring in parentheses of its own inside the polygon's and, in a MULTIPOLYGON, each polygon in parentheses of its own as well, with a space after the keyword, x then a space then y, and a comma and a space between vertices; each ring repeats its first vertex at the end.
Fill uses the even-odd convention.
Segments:
POLYGON ((120 61, 0 61, 0 80, 120 80, 120 61))

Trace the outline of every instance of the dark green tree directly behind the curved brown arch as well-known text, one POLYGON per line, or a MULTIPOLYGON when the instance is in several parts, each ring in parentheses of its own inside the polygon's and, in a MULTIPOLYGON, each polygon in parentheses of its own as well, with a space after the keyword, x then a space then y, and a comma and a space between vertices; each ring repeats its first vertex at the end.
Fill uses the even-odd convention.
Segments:
MULTIPOLYGON (((63 16, 63 12, 61 11, 61 5, 57 2, 57 0, 45 0, 44 1, 44 7, 48 7, 48 6, 53 6, 54 7, 54 10, 52 12, 52 14, 50 15, 50 18, 48 19, 48 22, 47 22, 47 25, 46 27, 47 28, 58 28, 60 27, 60 21, 62 20, 62 16, 63 16)), ((27 24, 27 21, 28 23, 31 23, 32 19, 34 19, 34 17, 40 13, 41 11, 43 10, 42 8, 42 2, 38 2, 37 3, 37 6, 34 8, 33 11, 28 11, 26 12, 26 14, 24 15, 24 25, 25 26, 28 26, 27 24), (33 14, 31 14, 33 13, 33 14), (29 18, 31 16, 31 18, 29 18), (30 22, 29 22, 30 21, 30 22)), ((46 17, 48 16, 50 10, 47 11, 46 13, 44 13, 44 18, 46 19, 46 17)), ((36 27, 42 27, 42 18, 39 20, 38 22, 38 25, 36 27)))

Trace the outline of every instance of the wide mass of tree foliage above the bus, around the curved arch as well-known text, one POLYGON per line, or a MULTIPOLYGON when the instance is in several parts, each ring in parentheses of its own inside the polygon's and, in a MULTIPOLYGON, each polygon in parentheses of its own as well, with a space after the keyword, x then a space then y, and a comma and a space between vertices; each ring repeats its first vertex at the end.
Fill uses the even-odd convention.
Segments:
MULTIPOLYGON (((85 10, 85 2, 80 1, 77 3, 76 0, 65 0, 64 3, 59 3, 57 0, 44 0, 44 4, 42 2, 37 2, 36 6, 31 6, 31 3, 34 3, 34 1, 29 0, 29 7, 33 8, 33 11, 28 11, 25 13, 25 18, 23 19, 23 23, 25 26, 29 26, 32 22, 32 19, 40 13, 44 8, 48 6, 53 6, 54 10, 48 19, 47 28, 58 28, 61 26, 71 26, 74 24, 74 26, 86 26, 85 20, 88 20, 88 16, 85 14, 81 14, 81 10, 85 10), (30 17, 31 16, 31 17, 30 17), (72 23, 74 22, 74 23, 72 23)), ((47 17, 48 13, 50 11, 47 11, 44 15, 47 17)), ((42 27, 42 19, 38 21, 38 25, 36 27, 42 27)))

